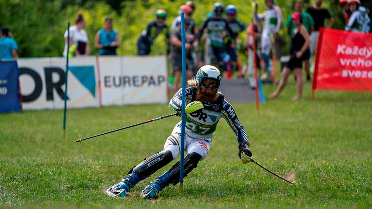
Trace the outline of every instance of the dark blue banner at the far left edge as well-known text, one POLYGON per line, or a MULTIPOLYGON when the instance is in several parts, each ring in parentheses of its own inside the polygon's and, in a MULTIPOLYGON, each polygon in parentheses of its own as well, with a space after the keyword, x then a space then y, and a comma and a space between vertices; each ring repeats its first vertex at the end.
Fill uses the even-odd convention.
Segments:
POLYGON ((0 112, 20 111, 19 69, 16 61, 0 61, 0 112))

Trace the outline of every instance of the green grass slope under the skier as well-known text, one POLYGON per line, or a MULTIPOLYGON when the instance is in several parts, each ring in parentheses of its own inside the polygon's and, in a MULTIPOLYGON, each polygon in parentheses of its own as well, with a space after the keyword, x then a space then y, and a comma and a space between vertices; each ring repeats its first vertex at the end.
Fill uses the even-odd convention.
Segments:
MULTIPOLYGON (((264 86, 269 95, 274 90, 264 86)), ((233 104, 253 156, 290 185, 253 163, 221 119, 208 157, 155 200, 142 189, 176 161, 111 198, 104 191, 144 158, 162 150, 179 120, 172 117, 74 143, 77 137, 172 113, 168 105, 71 109, 62 137, 62 110, 0 115, 0 206, 35 208, 372 208, 372 94, 316 92, 293 102, 293 77, 283 94, 261 104, 233 104)))

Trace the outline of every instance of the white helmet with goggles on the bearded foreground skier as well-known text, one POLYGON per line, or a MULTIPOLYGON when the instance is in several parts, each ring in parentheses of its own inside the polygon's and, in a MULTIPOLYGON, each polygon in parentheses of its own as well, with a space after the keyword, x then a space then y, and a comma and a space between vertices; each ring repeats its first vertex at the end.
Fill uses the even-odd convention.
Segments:
POLYGON ((196 85, 208 88, 212 86, 213 89, 218 89, 221 83, 221 73, 212 65, 202 66, 196 74, 196 85))

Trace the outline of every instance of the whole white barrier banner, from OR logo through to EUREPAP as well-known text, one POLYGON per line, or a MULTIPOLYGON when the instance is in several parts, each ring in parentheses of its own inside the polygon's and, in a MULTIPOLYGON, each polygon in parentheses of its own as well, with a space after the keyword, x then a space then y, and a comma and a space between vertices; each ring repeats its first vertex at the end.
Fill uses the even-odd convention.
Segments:
MULTIPOLYGON (((21 58, 18 67, 23 109, 63 108, 65 58, 21 58)), ((165 56, 70 58, 67 107, 167 103, 166 81, 165 56)))

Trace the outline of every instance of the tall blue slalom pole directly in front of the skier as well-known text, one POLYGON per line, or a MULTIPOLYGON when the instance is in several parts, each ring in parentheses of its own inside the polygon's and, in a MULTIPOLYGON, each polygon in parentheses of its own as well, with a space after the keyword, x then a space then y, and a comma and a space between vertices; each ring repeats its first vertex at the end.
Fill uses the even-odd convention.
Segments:
POLYGON ((185 140, 185 90, 186 90, 186 51, 185 51, 185 14, 181 12, 181 51, 182 51, 182 104, 181 104, 181 146, 180 146, 180 186, 184 180, 184 140, 185 140))

